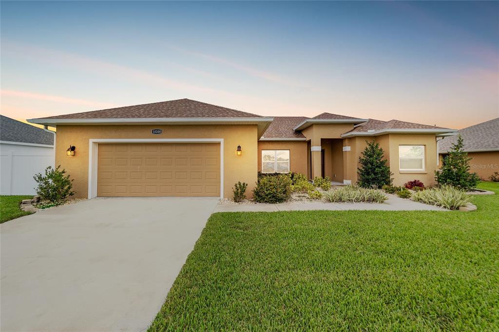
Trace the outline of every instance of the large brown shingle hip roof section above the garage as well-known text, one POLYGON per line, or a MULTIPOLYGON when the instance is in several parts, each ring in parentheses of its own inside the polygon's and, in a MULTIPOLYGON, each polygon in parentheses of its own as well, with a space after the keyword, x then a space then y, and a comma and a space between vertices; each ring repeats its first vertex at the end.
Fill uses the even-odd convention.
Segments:
POLYGON ((260 118, 261 116, 191 99, 117 107, 41 119, 260 118))

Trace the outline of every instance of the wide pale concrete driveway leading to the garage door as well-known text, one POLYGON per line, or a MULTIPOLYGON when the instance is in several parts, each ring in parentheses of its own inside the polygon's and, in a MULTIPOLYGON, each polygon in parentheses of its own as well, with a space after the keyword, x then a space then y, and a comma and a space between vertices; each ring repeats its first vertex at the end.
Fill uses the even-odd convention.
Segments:
POLYGON ((7 221, 1 331, 141 331, 218 198, 94 198, 7 221))

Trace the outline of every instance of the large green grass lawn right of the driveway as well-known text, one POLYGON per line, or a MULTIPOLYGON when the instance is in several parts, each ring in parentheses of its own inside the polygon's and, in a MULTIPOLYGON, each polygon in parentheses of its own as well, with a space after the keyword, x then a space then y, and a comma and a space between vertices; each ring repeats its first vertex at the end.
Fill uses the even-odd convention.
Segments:
POLYGON ((149 331, 498 331, 499 195, 474 203, 213 214, 149 331))

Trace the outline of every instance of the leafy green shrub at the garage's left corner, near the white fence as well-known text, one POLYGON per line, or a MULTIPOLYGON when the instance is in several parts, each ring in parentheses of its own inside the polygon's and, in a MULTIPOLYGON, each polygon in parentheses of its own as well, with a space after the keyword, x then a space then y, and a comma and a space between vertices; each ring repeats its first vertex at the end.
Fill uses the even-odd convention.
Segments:
POLYGON ((61 204, 64 199, 74 195, 71 191, 73 180, 69 179, 69 174, 66 174, 64 169, 60 170, 60 165, 57 168, 48 166, 45 168, 45 173, 36 173, 33 178, 38 183, 36 194, 40 195, 43 200, 48 200, 54 204, 61 204))

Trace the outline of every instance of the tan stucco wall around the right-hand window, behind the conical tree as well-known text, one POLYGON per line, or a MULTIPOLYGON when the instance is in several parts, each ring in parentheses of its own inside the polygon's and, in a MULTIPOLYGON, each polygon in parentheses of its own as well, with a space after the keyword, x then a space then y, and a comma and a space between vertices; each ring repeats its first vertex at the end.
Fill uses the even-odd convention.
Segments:
POLYGON ((357 168, 359 157, 366 147, 366 141, 374 140, 380 144, 385 152, 393 175, 394 185, 403 185, 407 181, 418 179, 425 185, 435 184, 435 170, 437 169, 437 144, 433 134, 387 134, 375 137, 352 137, 343 141, 343 146, 350 146, 351 151, 345 152, 343 160, 345 179, 357 181, 357 168), (399 169, 399 145, 424 145, 425 146, 425 170, 424 171, 401 171, 399 169))

